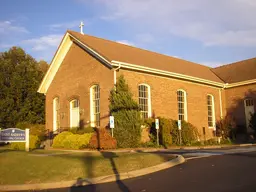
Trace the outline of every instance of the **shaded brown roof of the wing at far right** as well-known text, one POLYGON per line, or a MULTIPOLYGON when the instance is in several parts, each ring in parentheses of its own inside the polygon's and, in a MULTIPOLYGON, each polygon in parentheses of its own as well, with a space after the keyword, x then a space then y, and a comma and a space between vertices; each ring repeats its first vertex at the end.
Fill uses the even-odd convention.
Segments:
POLYGON ((256 79, 256 57, 212 69, 226 83, 256 79))

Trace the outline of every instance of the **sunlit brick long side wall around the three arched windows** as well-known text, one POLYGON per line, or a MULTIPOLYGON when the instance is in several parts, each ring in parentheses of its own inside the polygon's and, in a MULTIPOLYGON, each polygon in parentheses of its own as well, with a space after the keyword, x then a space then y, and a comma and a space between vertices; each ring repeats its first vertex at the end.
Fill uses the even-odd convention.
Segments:
MULTIPOLYGON (((206 99, 207 94, 214 96, 215 117, 216 120, 219 120, 221 114, 219 88, 134 71, 120 70, 118 75, 121 74, 127 80, 137 101, 138 85, 146 83, 151 87, 152 114, 156 116, 178 119, 177 90, 185 90, 187 93, 188 122, 198 128, 201 136, 203 136, 202 127, 205 127, 206 137, 212 137, 213 130, 208 128, 206 99)), ((223 91, 221 93, 223 95, 223 91)))

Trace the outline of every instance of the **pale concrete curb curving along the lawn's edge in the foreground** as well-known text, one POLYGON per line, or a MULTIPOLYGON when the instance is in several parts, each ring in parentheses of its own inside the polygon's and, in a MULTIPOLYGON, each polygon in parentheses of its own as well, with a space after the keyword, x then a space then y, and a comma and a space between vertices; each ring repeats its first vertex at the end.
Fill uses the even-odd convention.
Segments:
POLYGON ((88 179, 77 179, 72 181, 63 181, 55 183, 39 183, 39 184, 24 184, 24 185, 0 185, 0 191, 22 191, 22 190, 44 190, 44 189, 56 189, 56 188, 66 188, 66 187, 77 187, 77 186, 86 186, 91 184, 107 183, 118 180, 130 179, 149 173, 154 173, 163 169, 171 168, 173 166, 184 163, 186 160, 183 156, 177 155, 175 159, 172 159, 168 162, 155 165, 152 167, 139 169, 135 171, 130 171, 126 173, 107 175, 96 178, 88 179))

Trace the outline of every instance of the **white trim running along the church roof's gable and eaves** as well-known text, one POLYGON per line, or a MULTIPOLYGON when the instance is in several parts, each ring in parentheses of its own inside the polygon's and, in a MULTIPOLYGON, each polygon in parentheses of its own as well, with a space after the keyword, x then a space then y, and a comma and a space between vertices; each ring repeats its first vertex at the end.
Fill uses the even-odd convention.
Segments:
POLYGON ((243 81, 243 82, 238 82, 238 83, 231 83, 231 84, 226 83, 225 84, 225 83, 219 83, 219 82, 210 81, 210 80, 193 77, 193 76, 189 76, 189 75, 183 75, 180 73, 174 73, 174 72, 169 72, 169 71, 165 71, 165 70, 144 67, 141 65, 130 64, 130 63, 121 62, 121 61, 112 60, 111 62, 109 62, 105 57, 103 57, 102 55, 100 55, 99 53, 94 51, 92 48, 85 45, 79 39, 77 39, 76 37, 74 37, 73 35, 71 35, 67 32, 57 50, 57 52, 56 52, 56 54, 51 62, 51 65, 50 65, 46 75, 44 76, 37 92, 46 94, 54 76, 56 75, 62 61, 64 60, 67 52, 69 51, 69 49, 73 43, 72 40, 74 40, 76 43, 78 43, 80 46, 82 46, 87 52, 89 52, 89 53, 93 54, 94 56, 96 56, 97 58, 99 58, 104 64, 106 64, 110 68, 112 68, 114 66, 117 66, 117 67, 121 66, 124 69, 133 69, 133 70, 142 71, 142 72, 164 75, 164 76, 194 81, 197 83, 203 83, 203 84, 208 84, 208 85, 212 85, 212 86, 217 86, 217 87, 221 87, 221 88, 232 88, 232 87, 256 83, 256 79, 253 79, 253 80, 248 80, 248 81, 243 81))

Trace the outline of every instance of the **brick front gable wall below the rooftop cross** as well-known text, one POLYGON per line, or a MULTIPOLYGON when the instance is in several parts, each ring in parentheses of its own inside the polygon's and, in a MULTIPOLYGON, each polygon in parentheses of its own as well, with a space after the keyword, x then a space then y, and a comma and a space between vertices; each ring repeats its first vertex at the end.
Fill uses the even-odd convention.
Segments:
POLYGON ((100 84, 101 126, 108 124, 108 97, 114 84, 113 71, 73 44, 62 62, 46 94, 46 128, 53 128, 53 99, 60 98, 60 126, 68 128, 69 101, 79 98, 84 123, 90 121, 90 87, 100 84))

